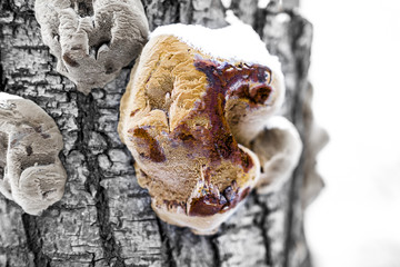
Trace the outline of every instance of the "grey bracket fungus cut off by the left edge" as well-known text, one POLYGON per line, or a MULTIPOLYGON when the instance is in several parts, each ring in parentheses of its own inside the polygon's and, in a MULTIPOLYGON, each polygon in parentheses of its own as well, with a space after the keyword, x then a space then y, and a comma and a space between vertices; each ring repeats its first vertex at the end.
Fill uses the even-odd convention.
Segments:
POLYGON ((0 92, 0 192, 31 215, 60 200, 62 136, 34 102, 0 92))

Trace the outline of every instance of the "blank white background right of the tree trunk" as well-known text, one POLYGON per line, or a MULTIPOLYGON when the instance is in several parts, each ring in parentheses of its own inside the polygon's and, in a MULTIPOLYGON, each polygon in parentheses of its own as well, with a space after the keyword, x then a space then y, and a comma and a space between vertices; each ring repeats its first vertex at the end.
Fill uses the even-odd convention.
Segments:
POLYGON ((302 0, 327 187, 309 207, 316 267, 400 266, 400 1, 302 0))

